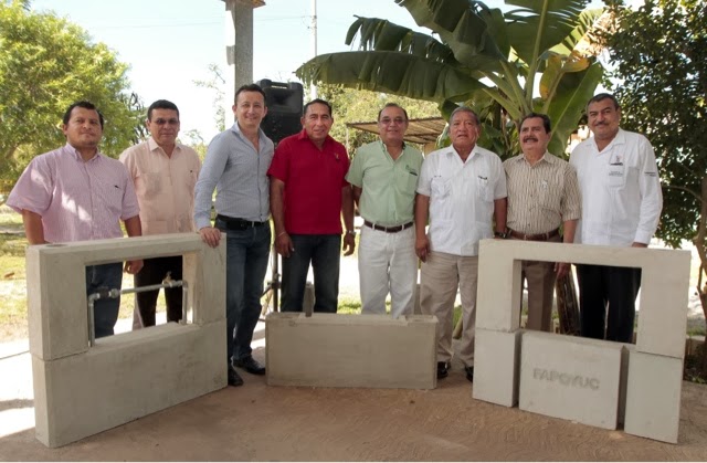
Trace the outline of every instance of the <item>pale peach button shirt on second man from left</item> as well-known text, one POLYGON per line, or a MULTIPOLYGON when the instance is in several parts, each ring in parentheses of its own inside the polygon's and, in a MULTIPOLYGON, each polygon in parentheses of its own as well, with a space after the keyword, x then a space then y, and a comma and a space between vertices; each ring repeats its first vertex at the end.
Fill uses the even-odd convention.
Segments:
POLYGON ((149 138, 123 151, 140 204, 143 234, 194 231, 194 186, 201 169, 197 151, 177 144, 171 156, 149 138))

